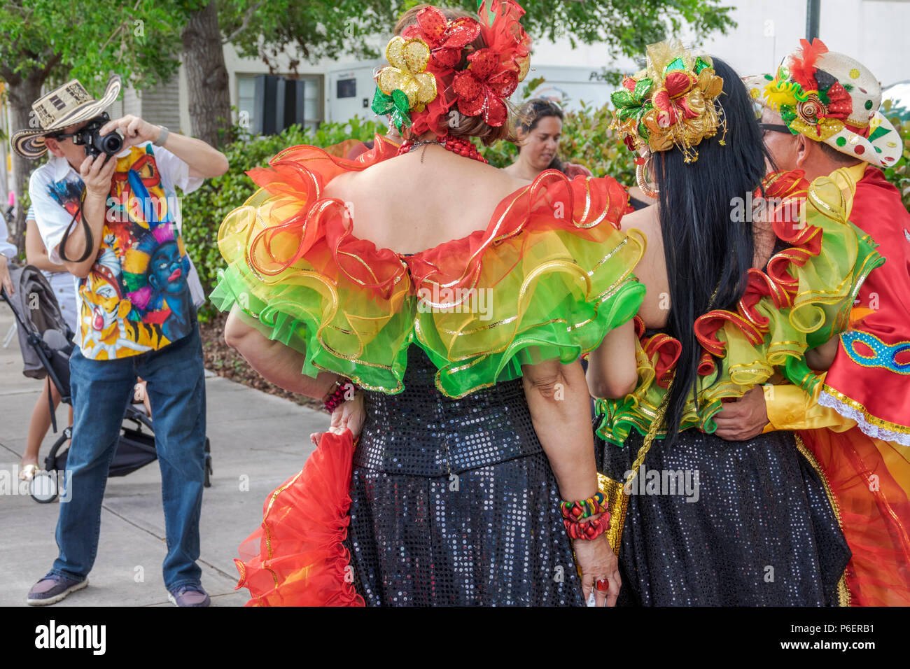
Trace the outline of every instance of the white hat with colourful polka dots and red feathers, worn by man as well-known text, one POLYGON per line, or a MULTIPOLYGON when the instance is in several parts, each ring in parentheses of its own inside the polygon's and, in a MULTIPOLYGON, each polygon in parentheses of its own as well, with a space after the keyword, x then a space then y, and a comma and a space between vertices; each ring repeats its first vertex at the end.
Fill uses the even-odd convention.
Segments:
POLYGON ((882 86, 862 63, 828 51, 824 42, 800 40, 774 76, 743 79, 756 102, 781 115, 800 133, 878 167, 894 165, 903 144, 882 115, 882 86))

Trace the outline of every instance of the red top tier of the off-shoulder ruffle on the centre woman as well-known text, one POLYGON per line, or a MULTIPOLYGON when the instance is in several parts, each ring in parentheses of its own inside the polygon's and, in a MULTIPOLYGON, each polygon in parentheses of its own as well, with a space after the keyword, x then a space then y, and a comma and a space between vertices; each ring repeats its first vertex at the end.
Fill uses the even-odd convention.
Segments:
MULTIPOLYGON (((339 199, 322 196, 331 179, 359 171, 395 155, 377 147, 356 160, 331 156, 316 147, 291 147, 268 168, 253 169, 249 176, 269 194, 300 201, 293 216, 258 232, 251 243, 253 269, 275 276, 301 259, 331 279, 346 279, 388 299, 393 287, 410 270, 415 293, 424 282, 451 289, 473 288, 480 276, 484 254, 507 238, 521 233, 571 231, 593 239, 587 228, 619 221, 629 208, 628 194, 612 177, 569 179, 557 170, 546 170, 530 186, 503 198, 485 229, 454 239, 412 256, 354 237, 353 220, 339 199), (292 253, 279 254, 279 238, 292 243, 292 253)), ((384 140, 389 143, 389 140, 384 140)), ((390 144, 390 143, 389 143, 390 144)))

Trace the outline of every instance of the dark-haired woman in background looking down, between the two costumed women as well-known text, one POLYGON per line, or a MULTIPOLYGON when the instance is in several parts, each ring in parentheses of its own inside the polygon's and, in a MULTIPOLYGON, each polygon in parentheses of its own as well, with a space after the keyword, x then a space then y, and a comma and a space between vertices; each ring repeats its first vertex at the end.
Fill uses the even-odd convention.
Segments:
POLYGON ((524 103, 516 114, 518 156, 505 171, 524 181, 533 181, 545 169, 558 169, 569 178, 591 177, 587 167, 564 163, 559 157, 564 121, 561 106, 551 100, 535 97, 524 103))

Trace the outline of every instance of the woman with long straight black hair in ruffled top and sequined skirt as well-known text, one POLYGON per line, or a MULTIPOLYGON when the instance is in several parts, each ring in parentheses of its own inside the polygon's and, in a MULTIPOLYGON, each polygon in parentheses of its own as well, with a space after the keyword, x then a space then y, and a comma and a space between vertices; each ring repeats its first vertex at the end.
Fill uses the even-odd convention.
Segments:
MULTIPOLYGON (((713 416, 775 371, 807 379, 808 364, 824 365, 877 254, 831 182, 806 199, 801 173, 763 178, 750 96, 719 59, 652 45, 647 70, 612 99, 616 127, 642 150, 640 185, 659 201, 622 221, 649 241, 636 270, 648 288, 640 382, 598 402, 620 601, 844 603, 850 552, 811 455, 792 432, 723 441, 713 416)), ((599 353, 595 394, 609 369, 599 353)))

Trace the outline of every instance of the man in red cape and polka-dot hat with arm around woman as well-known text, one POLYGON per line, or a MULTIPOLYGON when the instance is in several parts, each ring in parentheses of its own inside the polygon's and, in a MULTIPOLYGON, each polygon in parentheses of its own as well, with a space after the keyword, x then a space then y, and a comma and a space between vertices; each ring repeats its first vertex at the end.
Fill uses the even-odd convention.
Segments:
POLYGON ((834 179, 848 218, 885 264, 859 289, 814 395, 792 385, 753 389, 718 415, 717 434, 798 431, 839 506, 853 603, 910 605, 910 214, 882 171, 900 159, 903 141, 880 110, 875 76, 821 40, 802 40, 774 75, 745 81, 774 167, 834 179))

